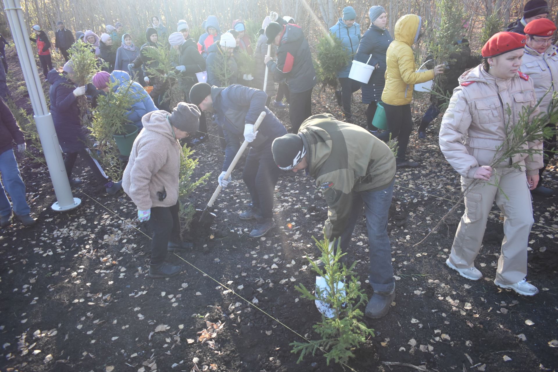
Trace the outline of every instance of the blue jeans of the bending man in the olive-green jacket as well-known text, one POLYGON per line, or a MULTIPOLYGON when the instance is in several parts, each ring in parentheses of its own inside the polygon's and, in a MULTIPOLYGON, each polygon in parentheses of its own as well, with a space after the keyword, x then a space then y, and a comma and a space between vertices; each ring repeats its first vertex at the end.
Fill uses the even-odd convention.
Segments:
MULTIPOLYGON (((395 180, 394 180, 395 181, 395 180)), ((393 182, 383 190, 353 192, 353 206, 347 226, 341 235, 341 252, 347 252, 354 226, 362 214, 366 215, 370 254, 370 276, 368 280, 375 293, 391 294, 395 289, 391 265, 391 244, 387 235, 387 220, 393 182)))

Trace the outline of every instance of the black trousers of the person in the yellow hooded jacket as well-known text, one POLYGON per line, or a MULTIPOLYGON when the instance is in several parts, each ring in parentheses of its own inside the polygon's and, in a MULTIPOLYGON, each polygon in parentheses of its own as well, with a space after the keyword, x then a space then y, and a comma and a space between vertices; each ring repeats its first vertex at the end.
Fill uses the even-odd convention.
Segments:
POLYGON ((386 110, 388 130, 377 137, 384 142, 389 141, 389 134, 391 134, 392 139, 397 138, 399 148, 397 149, 396 160, 405 161, 405 152, 413 129, 411 105, 393 106, 384 103, 383 106, 386 110))

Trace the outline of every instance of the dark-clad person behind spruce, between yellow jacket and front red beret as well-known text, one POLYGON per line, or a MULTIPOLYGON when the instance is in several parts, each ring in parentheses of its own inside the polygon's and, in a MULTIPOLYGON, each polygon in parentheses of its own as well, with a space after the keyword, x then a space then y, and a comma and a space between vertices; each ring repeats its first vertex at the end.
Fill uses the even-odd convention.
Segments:
MULTIPOLYGON (((468 70, 479 64, 479 57, 471 55, 471 49, 469 47, 469 40, 465 38, 467 29, 469 28, 469 21, 464 20, 461 24, 461 35, 458 40, 455 41, 458 49, 451 53, 448 57, 448 65, 444 72, 443 85, 441 91, 436 94, 430 95, 430 106, 426 109, 419 126, 419 138, 426 139, 426 128, 430 125, 432 120, 440 114, 440 107, 444 105, 447 101, 444 96, 451 96, 453 90, 456 86, 459 86, 459 76, 468 70)), ((432 55, 426 57, 426 60, 432 60, 432 55)), ((434 61, 427 62, 426 68, 431 69, 434 67, 434 61)))

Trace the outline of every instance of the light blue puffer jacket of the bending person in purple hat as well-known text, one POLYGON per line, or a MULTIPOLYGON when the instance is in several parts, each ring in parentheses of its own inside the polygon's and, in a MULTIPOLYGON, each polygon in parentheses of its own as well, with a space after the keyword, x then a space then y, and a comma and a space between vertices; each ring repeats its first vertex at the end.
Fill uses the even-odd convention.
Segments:
POLYGON ((110 74, 110 81, 112 83, 118 82, 115 91, 126 91, 129 86, 129 94, 132 94, 134 104, 128 111, 128 120, 132 122, 131 124, 136 125, 136 127, 143 128, 141 123, 143 115, 158 110, 151 96, 147 94, 140 83, 133 81, 130 85, 130 75, 126 71, 114 70, 110 74))

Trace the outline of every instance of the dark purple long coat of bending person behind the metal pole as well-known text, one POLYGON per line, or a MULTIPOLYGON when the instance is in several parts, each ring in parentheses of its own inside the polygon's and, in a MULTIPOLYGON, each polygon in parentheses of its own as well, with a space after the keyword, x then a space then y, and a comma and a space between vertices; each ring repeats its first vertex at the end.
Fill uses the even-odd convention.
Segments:
POLYGON ((85 147, 85 131, 81 127, 78 101, 74 96, 75 85, 65 74, 50 70, 47 75, 50 89, 50 114, 56 136, 64 152, 78 152, 85 147))

